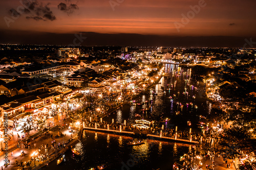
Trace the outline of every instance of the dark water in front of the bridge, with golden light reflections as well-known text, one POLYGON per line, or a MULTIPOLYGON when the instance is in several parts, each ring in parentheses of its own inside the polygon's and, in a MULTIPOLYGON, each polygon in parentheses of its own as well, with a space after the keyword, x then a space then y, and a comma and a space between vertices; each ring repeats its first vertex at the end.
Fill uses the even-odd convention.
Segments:
POLYGON ((76 145, 82 151, 80 156, 69 150, 66 161, 56 165, 54 160, 44 169, 90 169, 102 164, 107 165, 105 169, 172 169, 174 161, 191 149, 188 144, 150 139, 142 145, 127 145, 131 140, 129 136, 84 131, 76 145))

